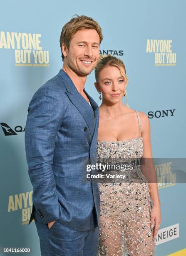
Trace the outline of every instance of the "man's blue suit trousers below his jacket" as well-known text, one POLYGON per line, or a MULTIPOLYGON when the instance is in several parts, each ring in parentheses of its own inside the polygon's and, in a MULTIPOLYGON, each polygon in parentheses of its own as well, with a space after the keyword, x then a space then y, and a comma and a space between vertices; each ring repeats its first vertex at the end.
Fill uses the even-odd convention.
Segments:
POLYGON ((40 238, 42 256, 96 256, 99 228, 77 231, 65 227, 57 220, 49 229, 39 221, 34 211, 35 225, 40 238))

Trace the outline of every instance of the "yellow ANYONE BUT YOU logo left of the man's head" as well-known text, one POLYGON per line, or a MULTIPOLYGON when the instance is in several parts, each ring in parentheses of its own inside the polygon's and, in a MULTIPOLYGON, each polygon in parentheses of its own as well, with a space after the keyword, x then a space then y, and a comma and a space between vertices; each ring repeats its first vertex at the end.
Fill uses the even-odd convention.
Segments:
POLYGON ((0 31, 0 49, 15 50, 15 66, 49 67, 49 51, 43 51, 41 34, 0 31))

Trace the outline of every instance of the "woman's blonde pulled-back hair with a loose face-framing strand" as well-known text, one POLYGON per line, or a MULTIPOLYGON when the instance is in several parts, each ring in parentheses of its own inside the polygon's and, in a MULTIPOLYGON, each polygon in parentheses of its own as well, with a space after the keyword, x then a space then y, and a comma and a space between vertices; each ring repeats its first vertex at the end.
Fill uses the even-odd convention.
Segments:
POLYGON ((128 82, 128 77, 126 76, 125 65, 121 59, 113 56, 112 54, 107 54, 107 55, 101 54, 99 56, 97 66, 94 69, 96 82, 99 84, 99 82, 98 82, 99 74, 102 71, 102 69, 104 69, 108 66, 117 67, 119 69, 119 71, 121 72, 122 77, 124 78, 124 82, 125 82, 125 87, 124 87, 124 93, 126 94, 125 102, 126 102, 127 107, 129 107, 129 104, 127 103, 128 97, 127 97, 127 93, 126 93, 126 85, 128 82))

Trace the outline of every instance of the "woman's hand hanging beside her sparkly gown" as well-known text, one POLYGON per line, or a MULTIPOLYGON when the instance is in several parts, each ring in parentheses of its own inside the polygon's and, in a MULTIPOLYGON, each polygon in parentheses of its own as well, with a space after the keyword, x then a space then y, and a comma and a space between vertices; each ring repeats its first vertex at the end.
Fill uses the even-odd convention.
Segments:
POLYGON ((153 205, 152 210, 151 210, 151 228, 154 228, 154 238, 156 238, 156 235, 158 233, 159 227, 161 223, 161 210, 160 210, 160 204, 158 205, 153 205))

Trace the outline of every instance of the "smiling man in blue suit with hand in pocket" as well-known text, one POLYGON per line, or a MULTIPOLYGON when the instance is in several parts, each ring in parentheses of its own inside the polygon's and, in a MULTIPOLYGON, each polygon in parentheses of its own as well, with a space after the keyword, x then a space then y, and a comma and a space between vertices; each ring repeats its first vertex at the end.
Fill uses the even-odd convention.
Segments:
MULTIPOLYGON (((99 108, 84 90, 102 41, 99 24, 81 15, 62 28, 63 67, 34 94, 25 147, 42 255, 94 256, 100 199, 95 182, 82 182, 95 164, 99 108)), ((29 224, 30 224, 29 222, 29 224)))

